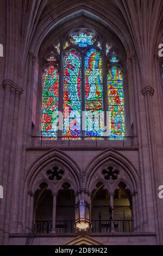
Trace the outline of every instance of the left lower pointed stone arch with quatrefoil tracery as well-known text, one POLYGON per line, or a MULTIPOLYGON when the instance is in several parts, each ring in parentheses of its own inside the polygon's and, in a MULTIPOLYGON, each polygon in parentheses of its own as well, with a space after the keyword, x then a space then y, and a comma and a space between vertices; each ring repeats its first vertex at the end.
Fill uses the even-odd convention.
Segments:
POLYGON ((70 157, 66 156, 66 154, 62 153, 60 150, 53 149, 48 151, 45 155, 41 156, 37 159, 32 165, 28 168, 27 174, 25 177, 27 187, 25 188, 26 191, 34 192, 41 182, 47 182, 49 189, 52 192, 58 193, 60 187, 64 182, 69 182, 72 190, 77 191, 80 188, 80 176, 79 176, 79 168, 70 157), (53 167, 53 165, 59 165, 61 168, 64 169, 65 177, 58 182, 50 182, 48 177, 46 178, 45 173, 49 168, 53 167), (54 185, 55 183, 55 191, 54 185))

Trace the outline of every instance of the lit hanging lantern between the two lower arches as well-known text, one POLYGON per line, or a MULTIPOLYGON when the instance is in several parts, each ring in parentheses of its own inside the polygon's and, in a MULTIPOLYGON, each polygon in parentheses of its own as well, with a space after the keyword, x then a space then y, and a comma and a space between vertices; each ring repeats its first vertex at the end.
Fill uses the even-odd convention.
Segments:
POLYGON ((85 200, 76 204, 76 228, 80 231, 90 228, 90 205, 85 200))

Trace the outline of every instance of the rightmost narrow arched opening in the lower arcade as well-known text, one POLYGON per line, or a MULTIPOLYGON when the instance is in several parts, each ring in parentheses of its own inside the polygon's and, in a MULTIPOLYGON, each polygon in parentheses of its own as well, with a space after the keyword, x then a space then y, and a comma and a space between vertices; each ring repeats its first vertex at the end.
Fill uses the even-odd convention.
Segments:
POLYGON ((132 231, 132 204, 130 191, 120 182, 114 193, 114 221, 119 232, 132 231))

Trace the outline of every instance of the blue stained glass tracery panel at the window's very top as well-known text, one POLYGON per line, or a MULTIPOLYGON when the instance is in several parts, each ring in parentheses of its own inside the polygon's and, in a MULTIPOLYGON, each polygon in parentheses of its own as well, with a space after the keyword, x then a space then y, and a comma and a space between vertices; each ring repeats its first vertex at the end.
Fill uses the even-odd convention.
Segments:
POLYGON ((70 41, 74 45, 86 47, 89 45, 93 45, 96 41, 96 38, 95 35, 93 35, 92 33, 79 31, 78 33, 73 33, 70 35, 70 41))

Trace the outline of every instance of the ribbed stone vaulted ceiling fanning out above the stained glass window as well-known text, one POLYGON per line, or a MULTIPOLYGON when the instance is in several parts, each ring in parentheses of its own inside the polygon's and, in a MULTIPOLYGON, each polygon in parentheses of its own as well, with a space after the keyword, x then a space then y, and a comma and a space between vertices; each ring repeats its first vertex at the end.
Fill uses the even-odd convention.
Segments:
POLYGON ((6 76, 20 81, 29 52, 37 56, 41 44, 73 27, 110 34, 124 45, 127 56, 136 54, 144 83, 153 69, 153 54, 162 39, 162 0, 8 0, 6 76))

